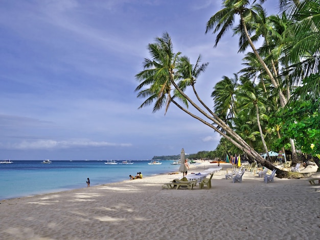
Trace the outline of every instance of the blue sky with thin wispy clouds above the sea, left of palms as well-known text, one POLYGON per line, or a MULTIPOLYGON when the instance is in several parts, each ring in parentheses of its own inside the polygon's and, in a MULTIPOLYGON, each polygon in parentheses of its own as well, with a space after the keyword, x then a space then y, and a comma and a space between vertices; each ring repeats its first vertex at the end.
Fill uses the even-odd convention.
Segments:
POLYGON ((134 76, 150 57, 148 43, 166 31, 175 52, 209 62, 196 88, 213 107, 214 84, 240 70, 243 57, 232 33, 216 48, 214 35, 205 35, 220 3, 2 0, 0 159, 138 160, 214 150, 220 136, 174 105, 166 115, 138 109, 134 76))

